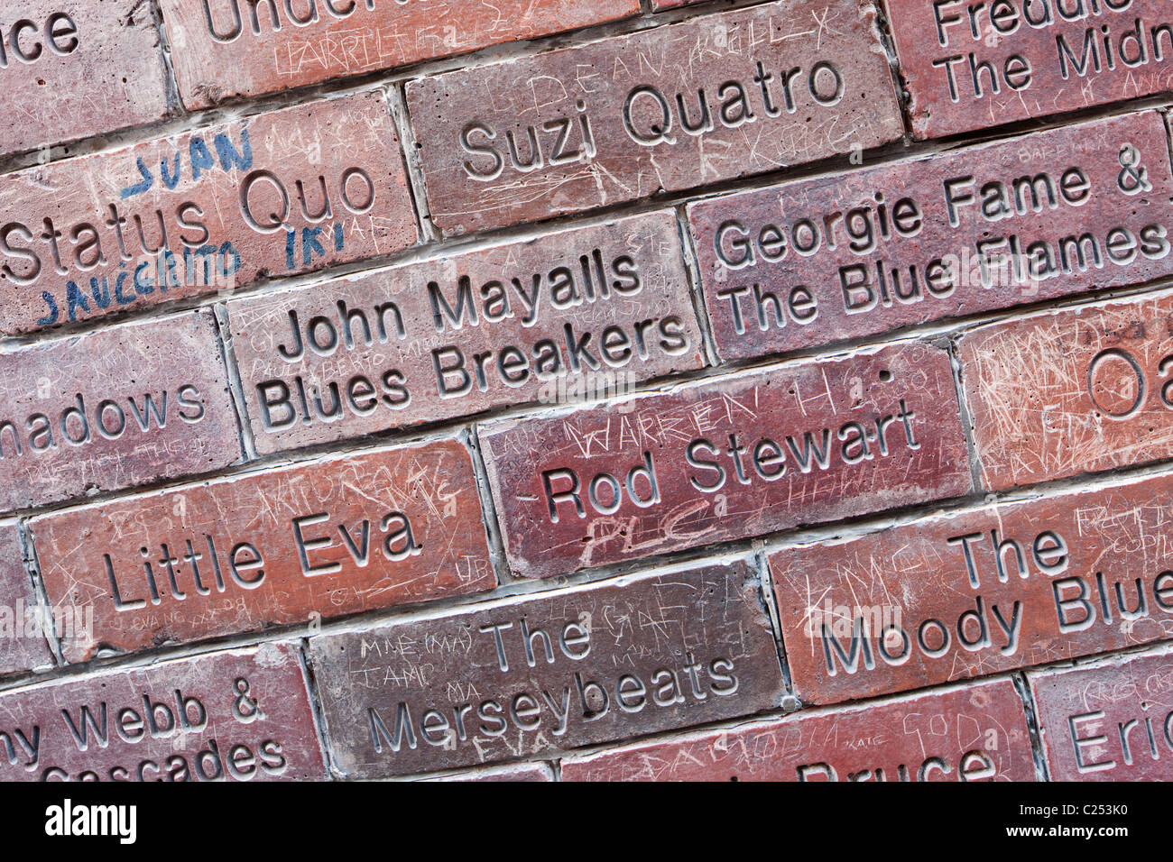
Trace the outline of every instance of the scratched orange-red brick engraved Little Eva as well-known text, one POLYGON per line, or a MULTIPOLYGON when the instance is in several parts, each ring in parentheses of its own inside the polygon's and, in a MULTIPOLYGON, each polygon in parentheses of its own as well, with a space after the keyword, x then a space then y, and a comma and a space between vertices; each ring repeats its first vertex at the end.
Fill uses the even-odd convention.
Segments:
POLYGON ((99 645, 134 651, 493 588, 482 524, 468 450, 441 440, 30 527, 49 603, 94 609, 90 638, 61 645, 66 660, 83 661, 99 645))

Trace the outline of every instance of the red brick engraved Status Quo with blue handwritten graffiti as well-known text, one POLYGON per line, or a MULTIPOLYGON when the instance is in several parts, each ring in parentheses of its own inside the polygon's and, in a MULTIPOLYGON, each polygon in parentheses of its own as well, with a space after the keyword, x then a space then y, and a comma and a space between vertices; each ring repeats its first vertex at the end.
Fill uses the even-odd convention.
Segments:
POLYGON ((13 174, 0 183, 0 333, 361 260, 416 240, 394 123, 377 93, 13 174), (332 215, 318 217, 323 186, 332 215), (169 252, 160 246, 161 223, 169 252))

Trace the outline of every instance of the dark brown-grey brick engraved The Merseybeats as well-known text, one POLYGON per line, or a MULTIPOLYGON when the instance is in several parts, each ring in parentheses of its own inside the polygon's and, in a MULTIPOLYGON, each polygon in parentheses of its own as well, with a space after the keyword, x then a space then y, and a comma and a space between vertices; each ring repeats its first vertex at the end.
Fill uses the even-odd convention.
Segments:
POLYGON ((760 598, 735 561, 311 638, 334 766, 448 769, 767 710, 760 598))

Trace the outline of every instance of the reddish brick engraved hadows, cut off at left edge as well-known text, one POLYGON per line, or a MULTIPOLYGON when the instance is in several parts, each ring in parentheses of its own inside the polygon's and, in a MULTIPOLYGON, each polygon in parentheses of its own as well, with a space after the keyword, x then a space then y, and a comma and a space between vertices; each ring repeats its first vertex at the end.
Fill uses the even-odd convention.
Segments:
POLYGON ((206 311, 26 347, 0 355, 0 511, 206 473, 240 456, 206 311))

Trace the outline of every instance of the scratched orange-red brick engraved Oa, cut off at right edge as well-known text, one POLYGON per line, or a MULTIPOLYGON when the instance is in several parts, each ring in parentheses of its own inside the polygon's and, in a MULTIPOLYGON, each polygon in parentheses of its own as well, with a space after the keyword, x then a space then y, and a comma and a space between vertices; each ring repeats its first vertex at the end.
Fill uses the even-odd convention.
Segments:
POLYGON ((1173 455, 1173 293, 994 324, 960 355, 988 488, 1173 455))

